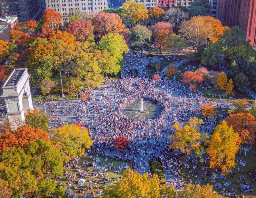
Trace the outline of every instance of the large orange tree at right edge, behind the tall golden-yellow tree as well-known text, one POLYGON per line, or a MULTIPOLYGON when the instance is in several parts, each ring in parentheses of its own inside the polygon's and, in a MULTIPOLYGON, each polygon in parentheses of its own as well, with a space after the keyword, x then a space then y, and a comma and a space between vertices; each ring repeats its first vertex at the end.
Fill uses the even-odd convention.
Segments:
POLYGON ((252 114, 230 114, 229 117, 226 118, 226 122, 240 135, 244 143, 253 144, 255 142, 256 121, 252 114))

